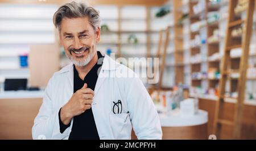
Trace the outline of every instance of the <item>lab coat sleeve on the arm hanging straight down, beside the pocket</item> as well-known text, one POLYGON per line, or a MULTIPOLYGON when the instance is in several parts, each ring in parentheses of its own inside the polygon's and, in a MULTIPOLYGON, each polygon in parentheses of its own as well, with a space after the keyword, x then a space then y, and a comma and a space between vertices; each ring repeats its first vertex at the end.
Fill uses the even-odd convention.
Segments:
POLYGON ((154 102, 138 77, 126 83, 127 106, 138 139, 162 139, 162 128, 154 102))

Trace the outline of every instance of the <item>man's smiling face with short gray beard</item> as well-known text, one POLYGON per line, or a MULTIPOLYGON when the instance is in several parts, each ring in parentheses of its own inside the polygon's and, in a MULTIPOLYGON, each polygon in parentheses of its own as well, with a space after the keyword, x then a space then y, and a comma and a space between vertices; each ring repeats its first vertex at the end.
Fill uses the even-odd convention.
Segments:
POLYGON ((95 31, 88 18, 64 18, 61 21, 60 44, 76 66, 86 66, 96 54, 100 28, 95 31))

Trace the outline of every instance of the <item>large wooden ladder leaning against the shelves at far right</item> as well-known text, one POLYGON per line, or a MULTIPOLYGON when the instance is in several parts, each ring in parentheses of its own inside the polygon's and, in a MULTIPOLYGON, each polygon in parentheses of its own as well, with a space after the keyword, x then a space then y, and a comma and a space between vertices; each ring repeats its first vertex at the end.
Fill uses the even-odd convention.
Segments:
POLYGON ((220 136, 220 129, 223 125, 233 127, 233 138, 240 139, 241 137, 241 121, 243 103, 245 100, 245 88, 246 88, 246 68, 249 59, 250 52, 250 41, 253 24, 253 13, 254 13, 254 0, 241 1, 234 0, 229 3, 229 18, 228 27, 226 30, 225 48, 223 63, 221 66, 221 80, 220 80, 220 98, 216 105, 216 114, 214 116, 214 134, 220 136), (240 9, 237 9, 240 8, 240 9), (242 8, 242 9, 241 9, 242 8), (245 12, 245 16, 237 15, 237 10, 245 12), (242 38, 233 36, 233 31, 242 28, 242 38), (230 51, 232 49, 241 47, 242 55, 241 58, 231 58, 230 51), (231 49, 230 49, 231 48, 231 49), (235 77, 232 76, 232 72, 236 71, 235 77), (229 91, 226 90, 226 81, 230 81, 231 88, 229 91), (226 96, 226 93, 230 93, 226 96), (236 95, 233 95, 233 94, 236 95), (232 98, 236 101, 234 107, 234 118, 233 120, 227 120, 222 117, 224 99, 232 98))

